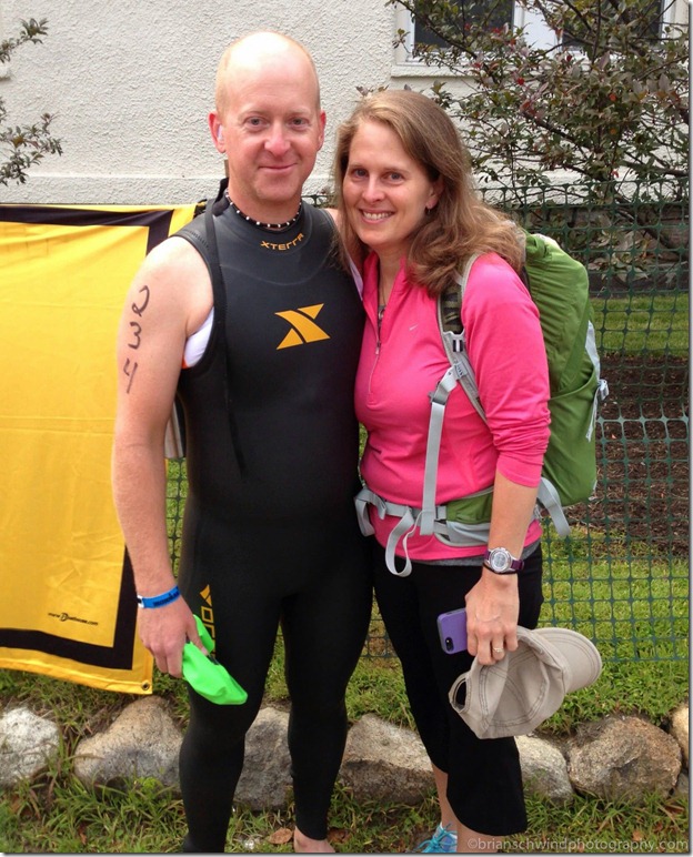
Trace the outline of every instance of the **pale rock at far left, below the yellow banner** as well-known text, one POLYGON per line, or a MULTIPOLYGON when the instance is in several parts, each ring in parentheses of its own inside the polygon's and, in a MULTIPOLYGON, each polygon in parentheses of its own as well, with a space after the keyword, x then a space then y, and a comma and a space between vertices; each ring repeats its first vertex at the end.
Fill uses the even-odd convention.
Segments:
POLYGON ((11 708, 0 717, 0 787, 40 774, 58 755, 60 733, 51 720, 29 708, 11 708))

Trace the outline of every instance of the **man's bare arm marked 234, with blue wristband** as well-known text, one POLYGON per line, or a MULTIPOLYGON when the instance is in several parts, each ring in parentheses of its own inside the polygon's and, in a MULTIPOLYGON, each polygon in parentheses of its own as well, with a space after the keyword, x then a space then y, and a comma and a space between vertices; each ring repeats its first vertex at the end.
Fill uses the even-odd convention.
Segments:
MULTIPOLYGON (((113 496, 135 587, 143 596, 175 585, 167 533, 163 442, 185 339, 202 323, 211 301, 202 259, 187 241, 169 239, 135 274, 120 320, 113 496)), ((185 639, 202 648, 182 598, 139 611, 139 631, 159 669, 174 676, 181 675, 185 639)))

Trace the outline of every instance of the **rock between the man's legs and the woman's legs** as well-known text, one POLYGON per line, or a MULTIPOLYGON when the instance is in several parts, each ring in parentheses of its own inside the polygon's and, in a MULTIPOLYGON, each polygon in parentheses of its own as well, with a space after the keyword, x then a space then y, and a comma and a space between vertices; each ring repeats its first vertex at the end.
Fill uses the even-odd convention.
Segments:
POLYGON ((349 730, 340 780, 356 800, 418 804, 434 788, 431 763, 419 736, 372 714, 349 730))

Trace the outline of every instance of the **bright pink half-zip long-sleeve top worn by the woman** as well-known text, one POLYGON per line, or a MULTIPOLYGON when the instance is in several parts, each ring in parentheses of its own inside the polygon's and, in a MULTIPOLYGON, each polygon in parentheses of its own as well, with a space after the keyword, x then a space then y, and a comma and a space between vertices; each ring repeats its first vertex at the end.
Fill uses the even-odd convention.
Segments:
MULTIPOLYGON (((421 507, 429 394, 450 363, 436 302, 425 289, 409 284, 403 263, 379 331, 378 278, 378 258, 371 253, 364 265, 366 324, 355 386, 356 414, 369 432, 361 473, 381 497, 421 507)), ((512 482, 536 486, 549 443, 549 373, 539 311, 499 255, 474 262, 462 323, 488 424, 458 385, 445 407, 436 504, 489 487, 496 468, 512 482)), ((371 508, 371 521, 384 545, 399 518, 381 520, 371 508)), ((533 521, 525 545, 540 536, 533 521)), ((412 559, 439 561, 475 556, 480 548, 450 547, 416 533, 408 552, 412 559)))

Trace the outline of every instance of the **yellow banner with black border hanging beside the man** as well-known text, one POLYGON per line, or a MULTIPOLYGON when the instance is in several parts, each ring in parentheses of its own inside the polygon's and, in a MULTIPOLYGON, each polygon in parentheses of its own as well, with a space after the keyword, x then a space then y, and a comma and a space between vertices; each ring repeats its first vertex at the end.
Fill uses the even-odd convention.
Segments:
POLYGON ((0 667, 151 693, 111 497, 116 333, 194 208, 0 205, 0 667))

